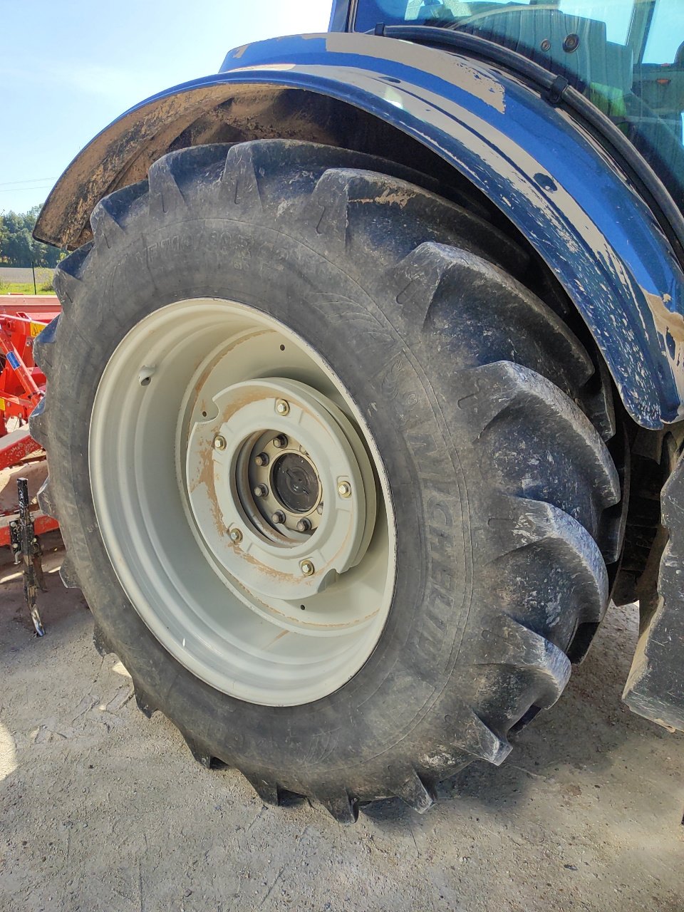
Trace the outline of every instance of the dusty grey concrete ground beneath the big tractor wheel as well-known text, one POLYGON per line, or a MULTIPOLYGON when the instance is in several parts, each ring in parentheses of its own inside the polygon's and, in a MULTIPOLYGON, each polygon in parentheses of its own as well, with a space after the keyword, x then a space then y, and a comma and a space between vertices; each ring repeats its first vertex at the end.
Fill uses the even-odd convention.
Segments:
POLYGON ((502 768, 473 764, 424 816, 388 801, 343 828, 308 803, 265 807, 144 719, 61 586, 58 534, 46 548, 42 640, 0 549, 4 912, 684 909, 684 741, 620 702, 634 606, 610 610, 502 768))

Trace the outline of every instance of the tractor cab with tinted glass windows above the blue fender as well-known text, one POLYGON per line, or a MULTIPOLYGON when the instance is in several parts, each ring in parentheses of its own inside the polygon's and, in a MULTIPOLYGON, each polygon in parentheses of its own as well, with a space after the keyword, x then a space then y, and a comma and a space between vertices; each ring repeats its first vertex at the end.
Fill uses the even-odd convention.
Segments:
POLYGON ((565 79, 613 121, 684 208, 680 0, 359 0, 354 31, 422 26, 479 36, 565 79))

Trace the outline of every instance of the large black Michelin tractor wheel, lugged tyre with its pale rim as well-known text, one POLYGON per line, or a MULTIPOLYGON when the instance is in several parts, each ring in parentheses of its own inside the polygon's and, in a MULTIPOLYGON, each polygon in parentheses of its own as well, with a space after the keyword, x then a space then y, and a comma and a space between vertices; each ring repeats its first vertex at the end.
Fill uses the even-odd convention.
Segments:
POLYGON ((310 143, 171 152, 98 203, 36 343, 99 648, 202 763, 343 822, 501 763, 617 560, 609 389, 528 254, 426 185, 310 143))

